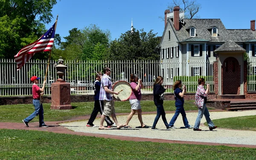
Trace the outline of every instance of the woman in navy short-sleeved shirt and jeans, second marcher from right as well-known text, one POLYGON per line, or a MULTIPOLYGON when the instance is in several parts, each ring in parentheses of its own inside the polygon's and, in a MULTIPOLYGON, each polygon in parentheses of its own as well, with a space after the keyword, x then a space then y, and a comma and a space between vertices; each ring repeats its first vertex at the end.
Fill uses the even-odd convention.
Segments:
POLYGON ((174 126, 175 121, 177 120, 177 117, 179 116, 179 114, 181 113, 182 115, 182 120, 184 123, 184 126, 186 129, 192 129, 193 126, 189 125, 189 121, 186 118, 186 113, 184 110, 184 94, 186 93, 186 86, 183 85, 183 90, 180 89, 182 86, 181 84, 181 80, 176 80, 176 82, 174 83, 174 85, 172 86, 173 91, 174 91, 174 97, 175 97, 175 107, 176 107, 176 111, 174 116, 172 117, 172 120, 169 123, 169 126, 171 126, 171 129, 176 129, 176 127, 174 126))

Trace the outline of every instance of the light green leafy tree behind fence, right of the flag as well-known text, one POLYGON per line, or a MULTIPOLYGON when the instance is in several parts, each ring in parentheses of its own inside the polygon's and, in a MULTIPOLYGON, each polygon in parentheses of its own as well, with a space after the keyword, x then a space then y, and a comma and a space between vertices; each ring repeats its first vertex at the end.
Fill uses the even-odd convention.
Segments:
MULTIPOLYGON (((109 52, 110 31, 91 24, 83 29, 74 28, 64 37, 61 49, 67 60, 104 60, 109 52)), ((59 51, 60 53, 61 51, 59 51)))

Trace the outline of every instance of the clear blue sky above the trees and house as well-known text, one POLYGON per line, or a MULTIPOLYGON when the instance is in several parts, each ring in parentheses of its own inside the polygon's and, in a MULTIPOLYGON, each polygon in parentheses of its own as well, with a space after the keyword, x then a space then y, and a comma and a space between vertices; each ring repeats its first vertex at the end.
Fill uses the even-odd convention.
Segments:
MULTIPOLYGON (((167 5, 172 0, 61 0, 53 7, 52 26, 57 14, 56 32, 62 37, 73 28, 82 29, 96 24, 102 30, 111 32, 111 40, 134 28, 148 32, 151 29, 162 36, 167 5)), ((201 4, 198 15, 202 19, 221 19, 226 29, 250 29, 250 20, 256 20, 256 0, 197 0, 201 4)))

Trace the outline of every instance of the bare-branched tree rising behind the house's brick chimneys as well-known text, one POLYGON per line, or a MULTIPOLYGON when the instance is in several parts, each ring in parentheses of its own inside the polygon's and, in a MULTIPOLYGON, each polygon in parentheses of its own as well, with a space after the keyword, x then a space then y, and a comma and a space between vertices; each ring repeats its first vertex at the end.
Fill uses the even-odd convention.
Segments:
POLYGON ((197 0, 172 0, 172 3, 168 4, 168 9, 172 12, 175 6, 180 6, 185 13, 185 18, 200 18, 197 13, 201 9, 201 4, 197 3, 197 0))

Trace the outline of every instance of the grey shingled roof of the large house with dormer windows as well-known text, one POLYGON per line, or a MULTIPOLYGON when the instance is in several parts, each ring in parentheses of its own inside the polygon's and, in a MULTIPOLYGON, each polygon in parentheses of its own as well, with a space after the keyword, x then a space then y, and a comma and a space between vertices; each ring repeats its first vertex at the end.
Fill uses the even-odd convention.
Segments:
MULTIPOLYGON (((174 29, 172 20, 169 19, 168 22, 174 29)), ((252 42, 252 40, 256 40, 256 31, 251 29, 226 29, 220 19, 184 19, 184 22, 184 25, 180 23, 179 31, 174 29, 178 42, 185 42, 191 38, 187 31, 190 27, 196 28, 196 38, 213 43, 223 43, 227 40, 233 42, 252 42), (217 37, 212 37, 210 34, 209 29, 213 27, 218 28, 217 37)))

